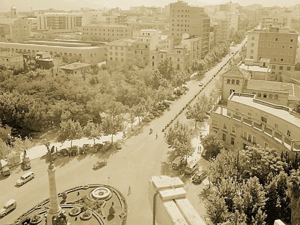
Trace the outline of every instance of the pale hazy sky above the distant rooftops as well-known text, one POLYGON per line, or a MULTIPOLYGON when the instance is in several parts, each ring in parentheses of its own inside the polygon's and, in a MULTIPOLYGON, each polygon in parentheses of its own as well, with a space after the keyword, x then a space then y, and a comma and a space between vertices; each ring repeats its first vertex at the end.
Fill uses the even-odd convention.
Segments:
MULTIPOLYGON (((20 12, 27 12, 32 10, 39 10, 39 9, 49 9, 54 8, 57 10, 80 10, 81 7, 87 7, 87 8, 116 8, 119 7, 120 9, 126 10, 129 9, 130 6, 161 6, 164 7, 165 5, 168 5, 171 2, 176 1, 170 1, 170 0, 153 0, 150 3, 145 3, 141 0, 133 0, 130 2, 119 2, 118 0, 111 0, 109 2, 100 2, 96 0, 85 0, 85 1, 78 1, 78 0, 53 0, 51 2, 44 2, 44 1, 37 1, 37 0, 4 0, 2 4, 2 9, 0 12, 7 12, 11 8, 12 5, 14 5, 16 8, 19 9, 20 12), (72 4, 70 4, 72 2, 72 4)), ((224 0, 187 0, 185 2, 188 2, 189 5, 195 5, 195 6, 206 6, 206 5, 217 5, 226 3, 228 1, 224 0), (208 4, 208 2, 210 4, 208 4)), ((289 0, 286 2, 279 2, 279 1, 272 1, 272 0, 262 0, 257 2, 248 2, 246 0, 239 0, 239 1, 232 1, 234 3, 239 3, 241 6, 247 6, 252 4, 261 4, 263 7, 272 7, 272 6, 280 6, 280 7, 289 7, 296 5, 298 3, 297 0, 289 0)))

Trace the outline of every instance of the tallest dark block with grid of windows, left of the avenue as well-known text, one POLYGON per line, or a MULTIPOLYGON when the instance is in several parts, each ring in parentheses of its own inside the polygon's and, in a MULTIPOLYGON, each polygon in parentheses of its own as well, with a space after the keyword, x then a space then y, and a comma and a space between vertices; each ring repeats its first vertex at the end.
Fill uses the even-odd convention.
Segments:
POLYGON ((187 2, 178 0, 170 3, 170 35, 174 36, 174 43, 181 43, 183 33, 202 37, 202 57, 209 49, 210 17, 204 12, 204 8, 188 6, 187 2))

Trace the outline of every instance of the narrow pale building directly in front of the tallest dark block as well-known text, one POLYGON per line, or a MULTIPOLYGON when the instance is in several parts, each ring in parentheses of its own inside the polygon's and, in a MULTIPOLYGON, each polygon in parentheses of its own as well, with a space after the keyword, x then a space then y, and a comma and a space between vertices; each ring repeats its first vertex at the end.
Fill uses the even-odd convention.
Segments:
POLYGON ((187 47, 189 52, 188 65, 192 65, 196 59, 201 59, 201 37, 190 36, 188 34, 182 35, 181 43, 187 47))

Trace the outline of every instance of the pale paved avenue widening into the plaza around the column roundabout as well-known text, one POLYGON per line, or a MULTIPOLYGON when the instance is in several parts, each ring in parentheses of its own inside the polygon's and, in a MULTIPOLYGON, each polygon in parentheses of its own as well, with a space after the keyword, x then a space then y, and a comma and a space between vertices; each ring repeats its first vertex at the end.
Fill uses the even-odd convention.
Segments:
MULTIPOLYGON (((233 51, 240 49, 241 45, 231 47, 233 51)), ((222 63, 206 73, 203 83, 206 83, 219 68, 224 65, 229 56, 227 55, 222 63)), ((106 154, 91 154, 78 156, 77 158, 60 157, 56 159, 56 179, 58 192, 74 186, 80 186, 88 183, 103 183, 113 185, 119 189, 127 198, 128 202, 128 223, 127 224, 151 224, 152 212, 148 201, 148 182, 154 175, 180 176, 186 182, 185 189, 187 197, 199 212, 205 214, 203 204, 201 204, 198 194, 204 188, 203 184, 194 185, 190 182, 190 177, 182 176, 177 170, 170 168, 172 154, 165 143, 163 133, 161 132, 165 125, 174 118, 174 116, 183 108, 184 105, 198 91, 198 81, 192 80, 188 83, 189 91, 180 99, 173 102, 170 109, 164 114, 153 120, 150 124, 141 128, 137 134, 129 138, 121 150, 108 152, 106 154), (153 133, 149 135, 149 129, 153 133), (156 139, 156 133, 158 138, 156 139), (98 159, 107 159, 107 166, 94 171, 93 163, 98 159), (127 196, 128 186, 132 187, 132 194, 127 196)), ((203 88, 203 93, 209 94, 214 88, 211 83, 203 88)), ((180 118, 184 119, 184 116, 180 118)), ((204 128, 207 124, 199 124, 204 128)), ((197 133, 195 133, 197 136, 197 133)), ((195 137, 197 139, 197 137, 195 137)), ((195 154, 197 155, 197 154, 195 154)), ((196 156, 195 156, 196 157, 196 156)), ((204 165, 203 159, 200 159, 204 165)), ((17 208, 6 217, 0 219, 0 224, 13 222, 19 215, 28 209, 48 198, 48 178, 47 164, 45 159, 37 158, 32 160, 31 171, 36 177, 21 187, 15 186, 15 181, 24 173, 17 168, 8 178, 2 178, 0 181, 0 204, 5 203, 10 198, 17 200, 17 208)))

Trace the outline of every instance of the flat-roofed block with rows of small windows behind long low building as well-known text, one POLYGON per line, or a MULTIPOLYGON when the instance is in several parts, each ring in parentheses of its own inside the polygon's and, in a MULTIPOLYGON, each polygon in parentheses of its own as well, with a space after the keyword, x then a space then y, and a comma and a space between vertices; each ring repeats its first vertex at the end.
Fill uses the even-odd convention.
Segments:
POLYGON ((93 22, 82 28, 82 40, 110 42, 130 37, 130 27, 93 22))

